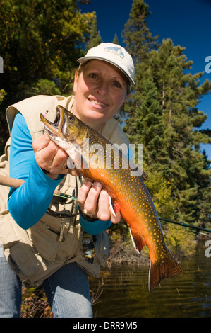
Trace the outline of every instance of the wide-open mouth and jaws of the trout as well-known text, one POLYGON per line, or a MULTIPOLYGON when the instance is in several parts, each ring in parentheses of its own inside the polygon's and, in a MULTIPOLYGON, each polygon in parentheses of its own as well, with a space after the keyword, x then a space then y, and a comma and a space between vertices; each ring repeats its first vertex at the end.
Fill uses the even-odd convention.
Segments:
POLYGON ((56 118, 54 122, 47 120, 45 115, 40 113, 40 119, 44 125, 44 130, 46 130, 50 136, 64 137, 66 133, 66 120, 64 117, 64 112, 61 108, 56 107, 56 118))

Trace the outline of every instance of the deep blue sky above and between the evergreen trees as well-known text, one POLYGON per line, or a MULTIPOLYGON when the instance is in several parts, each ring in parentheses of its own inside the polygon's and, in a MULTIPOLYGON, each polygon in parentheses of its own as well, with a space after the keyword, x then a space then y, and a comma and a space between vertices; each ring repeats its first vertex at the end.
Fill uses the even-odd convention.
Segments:
MULTIPOLYGON (((123 45, 121 32, 129 18, 133 0, 91 0, 91 4, 80 6, 82 11, 97 13, 97 29, 103 42, 112 42, 117 33, 123 45)), ((193 61, 191 73, 205 72, 207 56, 211 56, 211 0, 145 0, 151 15, 147 20, 152 35, 162 39, 171 38, 174 45, 186 47, 184 54, 193 61)), ((211 66, 210 66, 211 69, 211 66)), ((211 80, 211 72, 203 74, 201 83, 211 80)), ((211 94, 200 101, 198 109, 207 114, 202 128, 211 128, 211 94)), ((203 145, 211 159, 211 145, 203 145)))

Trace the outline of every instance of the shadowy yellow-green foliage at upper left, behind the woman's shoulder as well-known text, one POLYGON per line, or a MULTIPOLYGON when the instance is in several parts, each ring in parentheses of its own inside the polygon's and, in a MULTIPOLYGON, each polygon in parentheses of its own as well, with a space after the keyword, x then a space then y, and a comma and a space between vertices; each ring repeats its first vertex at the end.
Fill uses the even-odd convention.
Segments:
MULTIPOLYGON (((5 109, 35 94, 68 95, 95 13, 81 13, 77 0, 0 0, 1 88, 5 109)), ((8 132, 0 132, 6 142, 8 132)), ((1 149, 2 152, 2 149, 1 149)))

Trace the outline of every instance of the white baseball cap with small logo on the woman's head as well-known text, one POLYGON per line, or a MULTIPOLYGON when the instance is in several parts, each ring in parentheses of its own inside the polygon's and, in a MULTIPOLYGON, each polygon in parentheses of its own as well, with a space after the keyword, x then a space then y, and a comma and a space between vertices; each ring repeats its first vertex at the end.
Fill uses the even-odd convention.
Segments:
POLYGON ((114 64, 118 67, 123 74, 126 75, 131 84, 135 84, 133 81, 135 76, 135 68, 131 55, 120 45, 113 43, 101 43, 88 50, 85 57, 78 59, 80 64, 84 64, 91 59, 99 59, 114 64))

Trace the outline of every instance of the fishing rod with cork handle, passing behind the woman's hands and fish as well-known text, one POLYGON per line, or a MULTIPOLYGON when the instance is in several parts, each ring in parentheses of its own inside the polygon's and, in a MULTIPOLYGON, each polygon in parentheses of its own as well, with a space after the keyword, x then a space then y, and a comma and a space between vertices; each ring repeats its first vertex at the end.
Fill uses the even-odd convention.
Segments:
MULTIPOLYGON (((3 185, 3 186, 18 188, 24 182, 25 181, 23 181, 22 179, 14 179, 14 178, 11 178, 8 176, 0 175, 0 185, 3 185)), ((77 200, 77 198, 75 196, 69 196, 67 194, 60 193, 59 191, 54 191, 54 196, 60 196, 62 198, 70 198, 72 200, 77 200)), ((159 220, 161 220, 163 222, 173 223, 175 225, 181 225, 181 227, 188 227, 190 229, 205 231, 205 232, 208 232, 209 234, 211 234, 211 230, 203 228, 203 227, 196 227, 195 225, 188 225, 187 223, 176 222, 173 220, 169 220, 167 218, 159 218, 159 220)))

